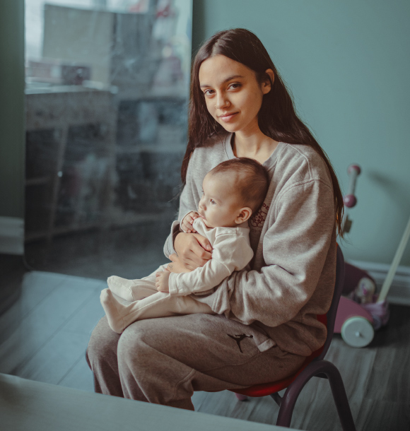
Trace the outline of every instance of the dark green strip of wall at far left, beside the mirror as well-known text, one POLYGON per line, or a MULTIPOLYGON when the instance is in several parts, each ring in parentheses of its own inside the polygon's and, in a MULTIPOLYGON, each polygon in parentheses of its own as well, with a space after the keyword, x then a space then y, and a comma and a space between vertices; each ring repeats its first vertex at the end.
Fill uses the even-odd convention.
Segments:
POLYGON ((0 1, 0 216, 24 217, 24 1, 0 1))

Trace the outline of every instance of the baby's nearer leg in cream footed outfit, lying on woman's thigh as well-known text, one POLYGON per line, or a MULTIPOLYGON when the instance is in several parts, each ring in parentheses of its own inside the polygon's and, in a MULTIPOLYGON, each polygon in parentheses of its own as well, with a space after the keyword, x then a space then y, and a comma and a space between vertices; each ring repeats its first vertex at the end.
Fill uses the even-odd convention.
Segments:
POLYGON ((171 296, 163 292, 157 292, 143 300, 127 302, 117 297, 110 289, 104 289, 100 300, 110 328, 117 333, 122 333, 131 323, 141 319, 195 313, 215 314, 209 305, 202 304, 190 296, 171 296))

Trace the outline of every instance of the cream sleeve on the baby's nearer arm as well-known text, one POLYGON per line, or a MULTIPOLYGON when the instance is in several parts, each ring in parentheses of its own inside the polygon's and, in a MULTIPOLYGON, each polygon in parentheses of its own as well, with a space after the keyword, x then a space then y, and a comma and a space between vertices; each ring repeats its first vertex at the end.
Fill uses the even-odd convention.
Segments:
POLYGON ((189 273, 171 273, 170 295, 185 296, 209 290, 245 268, 253 256, 249 239, 236 232, 218 235, 213 242, 212 259, 189 273))

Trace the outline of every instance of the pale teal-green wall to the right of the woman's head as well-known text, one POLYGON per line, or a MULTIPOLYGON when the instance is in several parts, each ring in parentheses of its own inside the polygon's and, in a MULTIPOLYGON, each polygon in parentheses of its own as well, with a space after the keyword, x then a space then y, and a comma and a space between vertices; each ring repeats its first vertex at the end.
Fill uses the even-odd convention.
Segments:
POLYGON ((252 30, 344 192, 346 168, 361 165, 348 259, 390 264, 410 216, 409 23, 406 0, 194 0, 194 49, 218 30, 252 30))

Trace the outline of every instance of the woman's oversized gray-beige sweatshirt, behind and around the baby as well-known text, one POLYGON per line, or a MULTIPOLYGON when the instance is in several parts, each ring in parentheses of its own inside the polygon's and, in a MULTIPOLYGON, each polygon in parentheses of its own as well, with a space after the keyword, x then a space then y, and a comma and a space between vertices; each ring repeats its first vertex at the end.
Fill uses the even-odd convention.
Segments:
MULTIPOLYGON (((181 220, 197 208, 202 181, 216 165, 235 158, 232 134, 196 148, 180 196, 181 220)), ((264 166, 271 180, 262 208, 250 220, 251 270, 232 273, 209 294, 194 295, 213 312, 248 325, 260 351, 273 346, 308 356, 327 329, 317 321, 332 302, 336 277, 336 212, 327 165, 305 145, 279 143, 264 166)), ((164 253, 175 253, 172 223, 164 253)))

